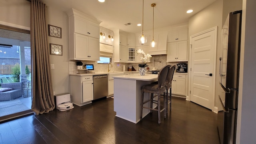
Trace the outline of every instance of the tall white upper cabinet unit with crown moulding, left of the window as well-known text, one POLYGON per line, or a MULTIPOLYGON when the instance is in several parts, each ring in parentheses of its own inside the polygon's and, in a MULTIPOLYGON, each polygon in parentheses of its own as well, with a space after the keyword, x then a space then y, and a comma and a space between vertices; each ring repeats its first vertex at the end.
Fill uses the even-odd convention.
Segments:
POLYGON ((101 21, 71 8, 69 20, 70 60, 100 60, 101 21))

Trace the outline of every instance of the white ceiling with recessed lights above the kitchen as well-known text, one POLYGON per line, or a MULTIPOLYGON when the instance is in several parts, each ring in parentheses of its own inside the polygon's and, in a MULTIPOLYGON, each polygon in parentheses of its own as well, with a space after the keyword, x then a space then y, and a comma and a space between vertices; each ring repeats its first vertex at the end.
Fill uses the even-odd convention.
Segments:
MULTIPOLYGON (((144 0, 144 31, 188 22, 188 18, 216 0, 144 0), (194 12, 187 14, 192 9, 194 12)), ((67 11, 74 8, 86 13, 102 23, 100 26, 110 30, 120 29, 125 32, 141 32, 142 26, 142 0, 106 0, 104 3, 98 0, 42 0, 46 5, 56 9, 67 11), (132 25, 125 26, 126 23, 132 25)))

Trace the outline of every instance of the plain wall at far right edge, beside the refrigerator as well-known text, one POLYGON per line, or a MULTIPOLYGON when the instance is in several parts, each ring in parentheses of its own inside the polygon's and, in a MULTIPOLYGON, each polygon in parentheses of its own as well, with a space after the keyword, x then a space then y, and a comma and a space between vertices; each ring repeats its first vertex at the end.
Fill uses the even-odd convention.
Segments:
POLYGON ((240 78, 238 90, 237 144, 256 143, 256 1, 243 0, 240 78))

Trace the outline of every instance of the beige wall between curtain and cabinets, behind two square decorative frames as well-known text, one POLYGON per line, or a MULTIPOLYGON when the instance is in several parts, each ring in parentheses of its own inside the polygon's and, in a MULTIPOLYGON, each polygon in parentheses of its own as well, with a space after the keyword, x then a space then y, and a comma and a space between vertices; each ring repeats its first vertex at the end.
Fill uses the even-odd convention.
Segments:
MULTIPOLYGON (((46 4, 47 5, 47 4, 46 4)), ((58 8, 47 6, 48 24, 62 28, 62 38, 49 36, 49 43, 62 45, 62 56, 50 55, 52 69, 52 87, 56 94, 70 92, 70 78, 68 70, 69 37, 68 15, 58 8)))

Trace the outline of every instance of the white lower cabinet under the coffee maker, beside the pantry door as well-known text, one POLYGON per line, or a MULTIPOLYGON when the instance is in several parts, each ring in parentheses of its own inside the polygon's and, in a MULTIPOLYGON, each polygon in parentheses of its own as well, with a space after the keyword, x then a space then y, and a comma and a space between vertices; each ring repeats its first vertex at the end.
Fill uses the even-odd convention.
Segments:
POLYGON ((186 96, 187 74, 174 74, 172 79, 172 94, 186 96))

